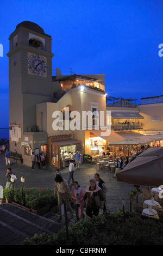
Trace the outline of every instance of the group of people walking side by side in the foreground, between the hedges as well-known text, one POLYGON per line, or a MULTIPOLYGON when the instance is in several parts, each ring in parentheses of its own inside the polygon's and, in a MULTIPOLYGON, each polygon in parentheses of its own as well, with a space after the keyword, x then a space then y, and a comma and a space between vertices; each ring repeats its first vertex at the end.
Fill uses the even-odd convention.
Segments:
MULTIPOLYGON (((54 194, 58 196, 58 207, 59 207, 59 216, 58 220, 61 219, 61 205, 62 197, 66 202, 67 209, 70 211, 71 218, 73 218, 73 211, 70 199, 70 188, 65 179, 62 178, 59 173, 59 169, 55 175, 55 185, 54 185, 54 194)), ((100 178, 99 174, 96 173, 94 178, 89 180, 89 186, 87 186, 85 193, 83 189, 78 184, 78 181, 73 181, 73 188, 71 191, 71 197, 73 199, 74 208, 76 210, 77 221, 81 218, 84 218, 83 206, 86 204, 86 215, 93 217, 93 215, 98 216, 99 210, 106 210, 106 197, 105 193, 108 191, 108 188, 105 182, 100 178)))

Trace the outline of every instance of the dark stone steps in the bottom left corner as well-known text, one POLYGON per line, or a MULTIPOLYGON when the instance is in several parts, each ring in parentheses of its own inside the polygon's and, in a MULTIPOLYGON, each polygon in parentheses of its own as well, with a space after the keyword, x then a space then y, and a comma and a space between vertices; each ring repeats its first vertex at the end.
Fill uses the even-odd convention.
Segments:
POLYGON ((34 214, 14 204, 0 205, 0 245, 19 245, 34 234, 57 234, 62 223, 34 214))

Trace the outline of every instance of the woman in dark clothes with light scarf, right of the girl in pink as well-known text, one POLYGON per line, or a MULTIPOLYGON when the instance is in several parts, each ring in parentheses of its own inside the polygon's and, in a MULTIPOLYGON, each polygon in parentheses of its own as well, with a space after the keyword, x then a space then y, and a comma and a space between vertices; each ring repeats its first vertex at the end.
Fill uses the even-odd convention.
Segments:
POLYGON ((96 185, 95 179, 90 179, 89 183, 90 185, 86 188, 83 199, 79 202, 87 200, 86 215, 92 218, 93 215, 98 216, 99 209, 103 209, 105 198, 101 187, 96 185))

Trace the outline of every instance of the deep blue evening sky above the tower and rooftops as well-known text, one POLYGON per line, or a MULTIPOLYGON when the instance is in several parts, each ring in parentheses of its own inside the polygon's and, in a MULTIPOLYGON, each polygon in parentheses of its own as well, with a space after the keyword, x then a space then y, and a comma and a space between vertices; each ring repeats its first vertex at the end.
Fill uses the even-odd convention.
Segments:
MULTIPOLYGON (((9 126, 6 54, 18 23, 35 22, 52 36, 53 68, 63 75, 71 69, 75 74, 105 74, 108 96, 136 97, 138 104, 141 97, 163 94, 163 57, 158 54, 162 13, 161 0, 1 1, 0 127, 9 126)), ((5 130, 0 133, 0 138, 8 137, 5 130)))

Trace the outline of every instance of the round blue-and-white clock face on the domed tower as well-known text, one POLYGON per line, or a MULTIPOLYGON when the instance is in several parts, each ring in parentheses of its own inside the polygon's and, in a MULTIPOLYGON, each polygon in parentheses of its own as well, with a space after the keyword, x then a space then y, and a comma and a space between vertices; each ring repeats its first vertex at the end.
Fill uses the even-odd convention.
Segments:
POLYGON ((31 54, 28 57, 28 69, 36 76, 45 76, 47 71, 46 59, 39 54, 31 54))

